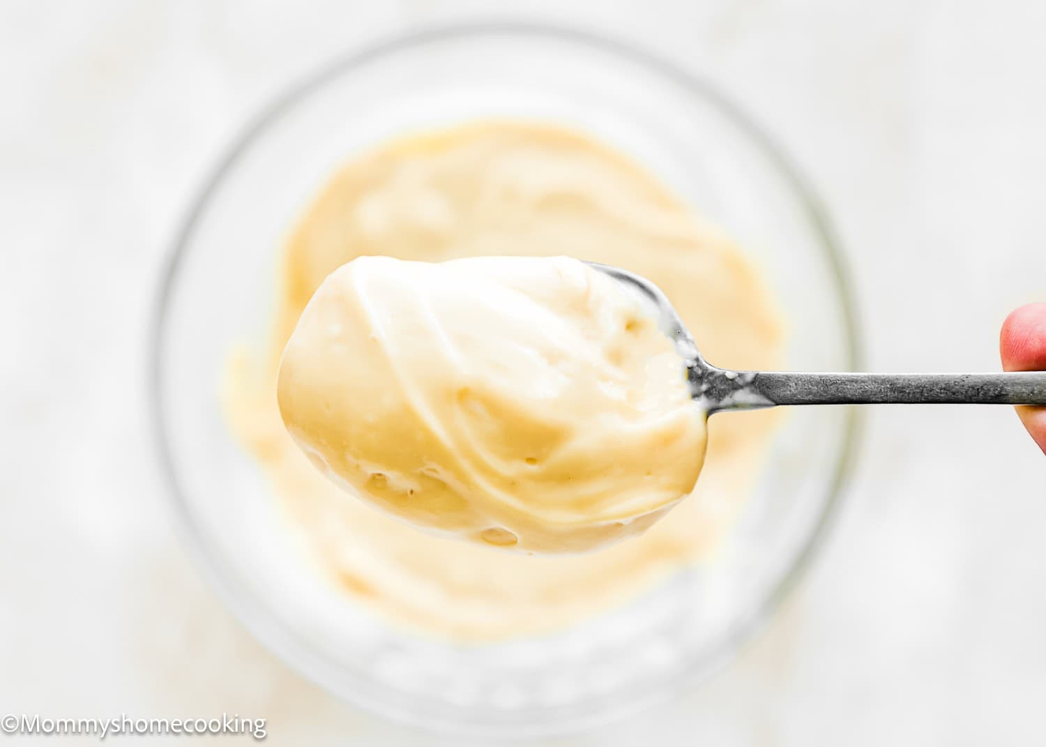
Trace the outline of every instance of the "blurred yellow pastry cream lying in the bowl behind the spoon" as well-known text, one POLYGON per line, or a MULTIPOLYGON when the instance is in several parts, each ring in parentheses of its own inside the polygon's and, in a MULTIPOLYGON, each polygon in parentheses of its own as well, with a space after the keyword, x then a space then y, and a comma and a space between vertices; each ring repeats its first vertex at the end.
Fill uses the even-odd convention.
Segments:
POLYGON ((418 531, 346 495, 310 463, 280 418, 276 371, 327 275, 362 255, 528 254, 639 273, 665 292, 708 360, 753 369, 781 363, 778 310, 753 267, 651 174, 589 137, 483 122, 356 157, 291 232, 267 352, 233 357, 225 400, 304 550, 342 593, 414 631, 463 640, 554 631, 709 557, 773 429, 774 410, 713 418, 693 493, 644 534, 583 554, 496 551, 418 531))

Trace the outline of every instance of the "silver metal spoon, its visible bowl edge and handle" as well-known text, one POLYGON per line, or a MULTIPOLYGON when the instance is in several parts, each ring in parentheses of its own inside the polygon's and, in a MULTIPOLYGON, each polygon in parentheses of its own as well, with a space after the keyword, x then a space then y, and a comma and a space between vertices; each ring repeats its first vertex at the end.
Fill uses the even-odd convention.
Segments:
POLYGON ((686 361, 691 395, 711 414, 775 405, 1046 405, 1046 371, 1010 374, 828 374, 735 371, 708 363, 661 289, 645 277, 588 263, 656 307, 659 326, 686 361))

